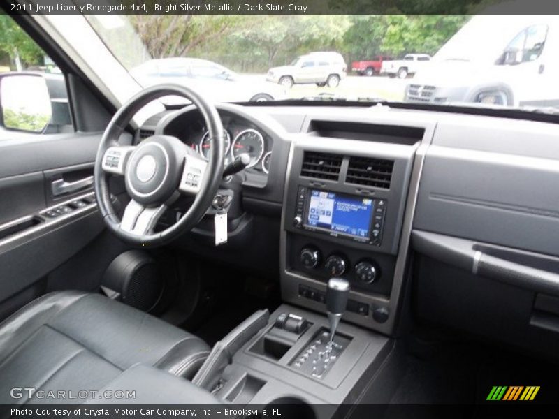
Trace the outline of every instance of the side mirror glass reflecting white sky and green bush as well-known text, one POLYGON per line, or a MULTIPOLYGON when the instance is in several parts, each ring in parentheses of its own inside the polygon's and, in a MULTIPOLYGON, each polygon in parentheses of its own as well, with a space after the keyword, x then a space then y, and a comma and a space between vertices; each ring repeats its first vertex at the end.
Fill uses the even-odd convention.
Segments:
POLYGON ((52 119, 46 80, 34 73, 1 75, 0 110, 4 128, 42 133, 52 119))

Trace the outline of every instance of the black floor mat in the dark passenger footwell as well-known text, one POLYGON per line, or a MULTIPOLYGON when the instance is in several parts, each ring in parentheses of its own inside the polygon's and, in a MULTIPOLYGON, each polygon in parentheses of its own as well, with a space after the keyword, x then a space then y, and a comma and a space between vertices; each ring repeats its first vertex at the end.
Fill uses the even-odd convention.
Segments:
POLYGON ((539 386, 532 402, 559 402, 558 365, 496 346, 441 344, 407 365, 391 404, 486 404, 493 386, 539 386))

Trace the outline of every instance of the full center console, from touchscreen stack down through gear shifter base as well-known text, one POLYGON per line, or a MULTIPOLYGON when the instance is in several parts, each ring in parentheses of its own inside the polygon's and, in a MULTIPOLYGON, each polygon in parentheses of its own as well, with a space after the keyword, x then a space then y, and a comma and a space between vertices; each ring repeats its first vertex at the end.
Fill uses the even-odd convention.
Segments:
POLYGON ((285 304, 223 369, 213 392, 227 403, 303 405, 291 416, 314 419, 343 404, 389 402, 401 357, 385 335, 405 274, 421 144, 433 131, 335 119, 307 122, 307 133, 291 140, 280 247, 285 304))

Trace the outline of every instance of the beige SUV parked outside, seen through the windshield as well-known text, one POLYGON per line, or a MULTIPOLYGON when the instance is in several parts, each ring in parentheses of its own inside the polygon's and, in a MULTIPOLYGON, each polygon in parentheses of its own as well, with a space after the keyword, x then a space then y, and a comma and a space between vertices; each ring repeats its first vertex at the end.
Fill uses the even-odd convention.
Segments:
POLYGON ((337 52, 311 52, 294 59, 289 66, 268 70, 266 80, 291 88, 293 84, 337 87, 347 75, 347 64, 337 52))

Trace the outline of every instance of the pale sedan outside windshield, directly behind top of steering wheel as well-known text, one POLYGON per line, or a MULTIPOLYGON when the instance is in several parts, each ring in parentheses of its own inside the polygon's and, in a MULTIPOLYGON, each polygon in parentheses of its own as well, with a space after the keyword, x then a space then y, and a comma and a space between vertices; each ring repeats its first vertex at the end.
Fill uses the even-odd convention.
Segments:
POLYGON ((130 71, 142 86, 164 82, 184 84, 203 92, 215 102, 262 102, 282 100, 284 89, 276 84, 243 78, 212 61, 197 58, 152 59, 130 71))

